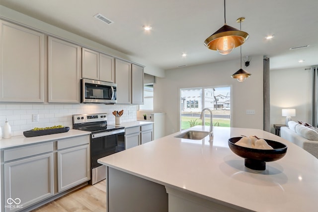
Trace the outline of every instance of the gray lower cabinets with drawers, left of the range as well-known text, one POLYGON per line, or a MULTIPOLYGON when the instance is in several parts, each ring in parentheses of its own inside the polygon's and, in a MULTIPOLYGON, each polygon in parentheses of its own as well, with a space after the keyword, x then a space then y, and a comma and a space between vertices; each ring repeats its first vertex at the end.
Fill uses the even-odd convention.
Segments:
POLYGON ((28 211, 87 182, 89 140, 85 135, 1 150, 0 211, 28 211))

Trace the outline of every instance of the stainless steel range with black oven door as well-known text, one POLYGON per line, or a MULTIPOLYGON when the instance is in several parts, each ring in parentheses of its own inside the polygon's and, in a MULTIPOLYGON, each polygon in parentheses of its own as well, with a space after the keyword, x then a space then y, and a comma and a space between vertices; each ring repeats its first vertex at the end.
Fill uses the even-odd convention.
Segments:
POLYGON ((73 129, 91 132, 91 185, 105 179, 106 167, 97 159, 125 150, 124 127, 107 125, 107 113, 73 115, 73 129))

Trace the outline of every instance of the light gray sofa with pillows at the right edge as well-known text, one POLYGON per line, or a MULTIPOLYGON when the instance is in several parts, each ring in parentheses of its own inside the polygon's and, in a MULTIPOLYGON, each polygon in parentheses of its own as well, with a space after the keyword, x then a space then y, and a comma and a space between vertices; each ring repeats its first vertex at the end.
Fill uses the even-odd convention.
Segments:
MULTIPOLYGON (((291 141, 296 145, 302 147, 312 155, 318 158, 318 133, 317 138, 315 132, 310 131, 311 129, 306 129, 307 127, 300 125, 296 122, 290 121, 288 123, 289 127, 280 128, 280 137, 291 141), (311 134, 308 136, 308 132, 311 134), (313 139, 313 140, 309 140, 313 139)), ((314 131, 314 130, 313 130, 314 131)))

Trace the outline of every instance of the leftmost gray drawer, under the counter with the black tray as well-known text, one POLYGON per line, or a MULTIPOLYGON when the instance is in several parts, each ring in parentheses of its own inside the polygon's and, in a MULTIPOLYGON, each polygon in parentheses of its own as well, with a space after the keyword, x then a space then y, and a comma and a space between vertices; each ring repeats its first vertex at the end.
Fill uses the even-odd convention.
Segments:
POLYGON ((3 150, 3 161, 15 160, 36 154, 53 151, 53 142, 46 142, 28 146, 3 150))

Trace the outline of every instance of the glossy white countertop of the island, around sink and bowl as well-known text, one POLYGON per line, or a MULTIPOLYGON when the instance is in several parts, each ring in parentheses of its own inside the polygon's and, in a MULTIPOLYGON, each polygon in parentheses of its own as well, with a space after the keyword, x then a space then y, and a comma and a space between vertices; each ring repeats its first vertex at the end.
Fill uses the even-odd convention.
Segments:
MULTIPOLYGON (((209 131, 196 126, 194 130, 209 131)), ((313 212, 318 210, 318 159, 278 136, 256 129, 214 127, 213 142, 174 138, 151 141, 98 162, 161 185, 257 212, 313 212), (228 147, 240 135, 285 143, 286 155, 266 162, 266 170, 244 166, 244 159, 228 147)))

